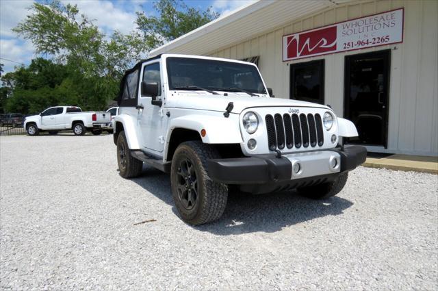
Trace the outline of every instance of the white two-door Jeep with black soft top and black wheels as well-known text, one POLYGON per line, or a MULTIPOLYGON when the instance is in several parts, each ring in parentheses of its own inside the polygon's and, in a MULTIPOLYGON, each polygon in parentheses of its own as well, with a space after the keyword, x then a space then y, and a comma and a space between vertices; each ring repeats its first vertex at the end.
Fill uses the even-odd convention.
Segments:
POLYGON ((330 107, 274 99, 255 64, 195 55, 157 55, 120 84, 114 143, 120 175, 143 162, 170 173, 181 218, 220 218, 229 188, 251 193, 297 190, 331 197, 366 149, 343 147, 353 123, 330 107))

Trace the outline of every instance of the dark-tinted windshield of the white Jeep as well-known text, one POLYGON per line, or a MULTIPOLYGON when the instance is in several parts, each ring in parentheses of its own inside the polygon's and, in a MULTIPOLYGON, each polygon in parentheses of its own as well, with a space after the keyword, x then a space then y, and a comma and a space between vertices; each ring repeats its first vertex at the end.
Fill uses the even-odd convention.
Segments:
POLYGON ((169 89, 222 90, 266 94, 257 68, 248 64, 195 58, 167 58, 169 89))

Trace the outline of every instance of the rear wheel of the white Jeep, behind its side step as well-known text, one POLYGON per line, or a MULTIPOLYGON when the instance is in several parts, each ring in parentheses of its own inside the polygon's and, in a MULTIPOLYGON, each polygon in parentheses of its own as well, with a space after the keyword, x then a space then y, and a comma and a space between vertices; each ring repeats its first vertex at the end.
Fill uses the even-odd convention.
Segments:
POLYGON ((117 138, 117 164, 120 176, 128 179, 142 173, 143 162, 131 155, 125 131, 120 131, 117 138))

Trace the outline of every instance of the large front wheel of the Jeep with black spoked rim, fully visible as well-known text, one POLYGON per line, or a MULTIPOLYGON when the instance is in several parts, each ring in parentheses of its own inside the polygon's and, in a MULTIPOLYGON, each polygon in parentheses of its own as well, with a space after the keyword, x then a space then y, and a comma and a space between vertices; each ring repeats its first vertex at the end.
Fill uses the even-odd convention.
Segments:
POLYGON ((212 181, 207 170, 207 160, 219 157, 216 149, 199 141, 183 142, 175 151, 170 169, 172 197, 186 223, 201 225, 222 216, 228 189, 212 181))

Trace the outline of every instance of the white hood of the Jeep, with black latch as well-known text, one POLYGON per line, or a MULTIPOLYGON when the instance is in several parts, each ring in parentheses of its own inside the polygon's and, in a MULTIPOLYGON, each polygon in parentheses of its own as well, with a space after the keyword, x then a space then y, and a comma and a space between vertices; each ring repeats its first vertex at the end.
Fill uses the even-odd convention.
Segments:
POLYGON ((177 107, 194 110, 213 110, 225 112, 229 102, 233 102, 231 113, 240 114, 249 107, 318 107, 329 108, 324 105, 298 101, 292 99, 270 98, 249 96, 246 93, 228 92, 228 96, 223 93, 214 95, 205 92, 177 92, 173 93, 172 98, 168 99, 167 107, 177 107))

